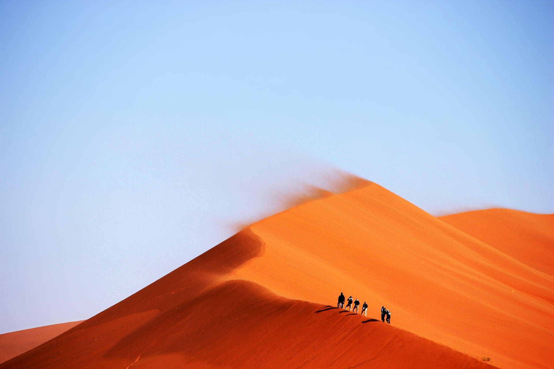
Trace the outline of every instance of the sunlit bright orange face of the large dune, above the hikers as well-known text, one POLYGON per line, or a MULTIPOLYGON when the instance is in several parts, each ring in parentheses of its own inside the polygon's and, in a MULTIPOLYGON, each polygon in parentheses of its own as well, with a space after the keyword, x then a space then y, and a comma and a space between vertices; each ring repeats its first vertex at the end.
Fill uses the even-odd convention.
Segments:
POLYGON ((554 366, 554 279, 377 184, 250 229, 264 241, 264 254, 235 278, 321 303, 343 291, 374 311, 386 306, 394 325, 490 356, 497 366, 554 366))

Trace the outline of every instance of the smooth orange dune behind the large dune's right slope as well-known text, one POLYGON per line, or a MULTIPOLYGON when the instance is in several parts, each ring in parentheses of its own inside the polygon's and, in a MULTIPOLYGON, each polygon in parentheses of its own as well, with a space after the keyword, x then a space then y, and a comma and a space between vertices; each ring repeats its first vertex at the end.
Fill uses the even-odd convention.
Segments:
POLYGON ((554 274, 554 214, 487 209, 442 216, 440 220, 531 268, 554 274))

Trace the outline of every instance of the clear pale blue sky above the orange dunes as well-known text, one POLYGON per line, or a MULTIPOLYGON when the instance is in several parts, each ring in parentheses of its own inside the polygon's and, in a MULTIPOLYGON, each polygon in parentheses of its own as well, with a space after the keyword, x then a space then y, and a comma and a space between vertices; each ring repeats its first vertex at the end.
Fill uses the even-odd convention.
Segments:
POLYGON ((0 2, 0 332, 89 318, 330 168, 552 212, 553 11, 0 2))

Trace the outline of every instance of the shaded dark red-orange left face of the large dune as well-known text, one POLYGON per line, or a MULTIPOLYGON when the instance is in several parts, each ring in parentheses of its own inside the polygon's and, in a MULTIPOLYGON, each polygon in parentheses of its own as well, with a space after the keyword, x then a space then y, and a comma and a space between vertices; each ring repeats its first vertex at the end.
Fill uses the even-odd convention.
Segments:
POLYGON ((1 368, 492 368, 410 332, 291 300, 232 268, 261 256, 239 232, 1 368))

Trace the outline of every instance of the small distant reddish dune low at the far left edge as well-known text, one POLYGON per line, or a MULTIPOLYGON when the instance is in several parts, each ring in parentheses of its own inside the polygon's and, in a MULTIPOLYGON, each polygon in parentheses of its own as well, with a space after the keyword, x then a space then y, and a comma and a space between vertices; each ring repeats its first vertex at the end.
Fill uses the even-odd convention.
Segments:
POLYGON ((81 323, 81 321, 46 325, 43 327, 0 334, 0 363, 23 354, 25 351, 34 349, 34 347, 38 345, 44 344, 44 342, 73 328, 75 325, 81 323))

